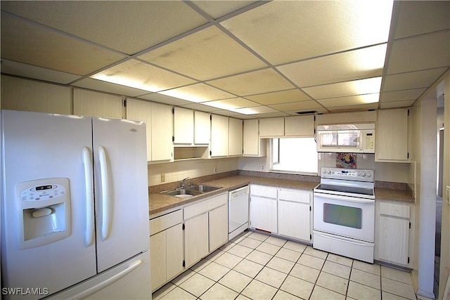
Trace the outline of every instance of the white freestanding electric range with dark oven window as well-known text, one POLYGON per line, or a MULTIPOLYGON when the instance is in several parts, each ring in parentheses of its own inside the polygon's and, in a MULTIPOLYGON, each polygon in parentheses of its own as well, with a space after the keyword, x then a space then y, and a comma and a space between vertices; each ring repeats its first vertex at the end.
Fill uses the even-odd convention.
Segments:
POLYGON ((373 170, 322 167, 313 194, 313 247, 373 263, 373 170))

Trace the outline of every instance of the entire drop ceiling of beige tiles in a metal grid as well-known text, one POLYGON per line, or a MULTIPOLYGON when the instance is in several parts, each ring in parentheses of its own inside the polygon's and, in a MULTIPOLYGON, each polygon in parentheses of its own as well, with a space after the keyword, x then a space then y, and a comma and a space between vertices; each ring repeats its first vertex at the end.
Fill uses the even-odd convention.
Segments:
POLYGON ((1 73, 242 119, 408 107, 450 1, 1 1, 1 73))

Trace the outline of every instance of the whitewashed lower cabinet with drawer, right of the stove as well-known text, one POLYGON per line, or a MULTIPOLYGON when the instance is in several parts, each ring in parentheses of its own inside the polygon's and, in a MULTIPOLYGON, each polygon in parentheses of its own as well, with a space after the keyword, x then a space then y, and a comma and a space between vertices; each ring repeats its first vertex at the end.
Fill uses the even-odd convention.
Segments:
POLYGON ((375 260, 410 264, 411 206, 378 201, 375 206, 375 260))

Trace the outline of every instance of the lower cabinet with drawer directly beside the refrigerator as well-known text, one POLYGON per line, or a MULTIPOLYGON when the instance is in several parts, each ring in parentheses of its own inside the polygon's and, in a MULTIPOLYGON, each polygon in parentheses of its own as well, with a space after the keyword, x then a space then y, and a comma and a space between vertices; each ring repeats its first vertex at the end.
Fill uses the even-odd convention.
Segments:
POLYGON ((150 220, 150 269, 152 292, 184 270, 183 212, 150 220))

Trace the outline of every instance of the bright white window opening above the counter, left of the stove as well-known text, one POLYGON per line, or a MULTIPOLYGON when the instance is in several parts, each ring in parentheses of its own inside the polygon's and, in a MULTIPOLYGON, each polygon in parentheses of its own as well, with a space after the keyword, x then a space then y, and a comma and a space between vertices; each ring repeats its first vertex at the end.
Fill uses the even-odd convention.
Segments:
POLYGON ((272 138, 271 171, 317 174, 317 148, 314 138, 272 138))

